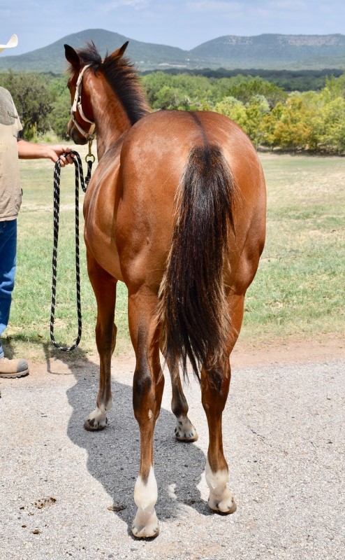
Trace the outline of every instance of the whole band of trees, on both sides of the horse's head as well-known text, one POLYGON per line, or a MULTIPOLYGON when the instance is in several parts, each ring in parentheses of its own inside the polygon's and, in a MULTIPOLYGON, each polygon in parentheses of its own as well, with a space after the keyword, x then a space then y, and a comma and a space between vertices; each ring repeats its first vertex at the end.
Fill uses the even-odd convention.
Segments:
MULTIPOLYGON (((288 91, 263 76, 244 73, 219 78, 160 71, 141 79, 154 111, 222 113, 235 120, 257 148, 345 153, 345 75, 325 76, 321 88, 308 91, 288 91)), ((67 138, 71 97, 66 76, 9 71, 0 74, 0 85, 13 96, 24 138, 50 130, 67 138)))

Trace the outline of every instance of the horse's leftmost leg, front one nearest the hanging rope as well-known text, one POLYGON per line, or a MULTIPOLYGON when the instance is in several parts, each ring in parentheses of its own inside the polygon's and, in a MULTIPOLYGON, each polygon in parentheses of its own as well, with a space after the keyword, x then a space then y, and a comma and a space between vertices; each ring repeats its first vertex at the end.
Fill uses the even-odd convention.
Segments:
POLYGON ((117 332, 114 324, 117 281, 90 255, 87 255, 87 269, 97 302, 96 344, 100 367, 96 409, 89 414, 84 427, 86 430, 103 430, 108 423, 107 414, 112 408, 111 358, 117 332))

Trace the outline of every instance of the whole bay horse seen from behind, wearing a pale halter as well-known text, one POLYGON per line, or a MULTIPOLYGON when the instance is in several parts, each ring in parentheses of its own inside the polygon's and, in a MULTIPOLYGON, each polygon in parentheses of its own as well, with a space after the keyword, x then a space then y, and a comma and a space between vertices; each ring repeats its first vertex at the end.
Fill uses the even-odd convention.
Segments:
POLYGON ((164 377, 172 382, 175 437, 198 439, 188 416, 179 365, 200 382, 209 427, 205 468, 209 506, 236 510, 223 454, 222 412, 230 386, 230 353, 240 333, 244 295, 265 243, 265 179, 249 138, 210 111, 152 113, 127 43, 101 58, 94 43, 74 50, 68 87, 75 144, 97 135, 98 167, 84 202, 89 279, 97 302, 100 358, 96 409, 87 430, 101 430, 112 407, 110 360, 117 328, 117 282, 128 289, 136 365, 133 409, 140 429, 140 468, 132 532, 159 533, 153 438, 164 377))

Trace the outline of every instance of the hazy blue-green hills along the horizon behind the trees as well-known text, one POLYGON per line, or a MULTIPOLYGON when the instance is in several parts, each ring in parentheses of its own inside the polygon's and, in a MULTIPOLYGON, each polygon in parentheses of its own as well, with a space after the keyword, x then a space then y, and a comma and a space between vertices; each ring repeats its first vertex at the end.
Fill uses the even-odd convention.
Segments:
POLYGON ((24 55, 1 56, 0 71, 63 73, 66 69, 64 43, 82 48, 94 41, 101 55, 129 41, 127 54, 138 70, 168 68, 224 69, 345 69, 345 36, 264 34, 251 37, 226 35, 191 50, 142 43, 105 31, 87 29, 59 39, 24 55))

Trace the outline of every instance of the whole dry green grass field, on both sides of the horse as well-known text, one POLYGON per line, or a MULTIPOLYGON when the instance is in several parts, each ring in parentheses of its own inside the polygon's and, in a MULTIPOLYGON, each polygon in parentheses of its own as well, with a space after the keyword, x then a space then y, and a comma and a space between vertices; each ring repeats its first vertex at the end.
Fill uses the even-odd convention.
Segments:
MULTIPOLYGON (((78 148, 85 155, 86 148, 78 148)), ((267 181, 267 242, 247 293, 242 342, 277 342, 344 332, 345 162, 342 158, 260 155, 267 181)), ((18 268, 6 353, 44 360, 61 353, 50 343, 52 279, 51 162, 21 161, 22 210, 18 222, 18 268)), ((82 201, 82 193, 80 200, 82 201)), ((70 359, 96 353, 96 303, 87 278, 80 220, 83 332, 70 359)), ((75 306, 74 166, 61 171, 58 252, 57 342, 77 336, 75 306)), ((119 283, 117 353, 131 351, 126 287, 119 283)), ((64 359, 68 356, 64 355, 64 359)))

